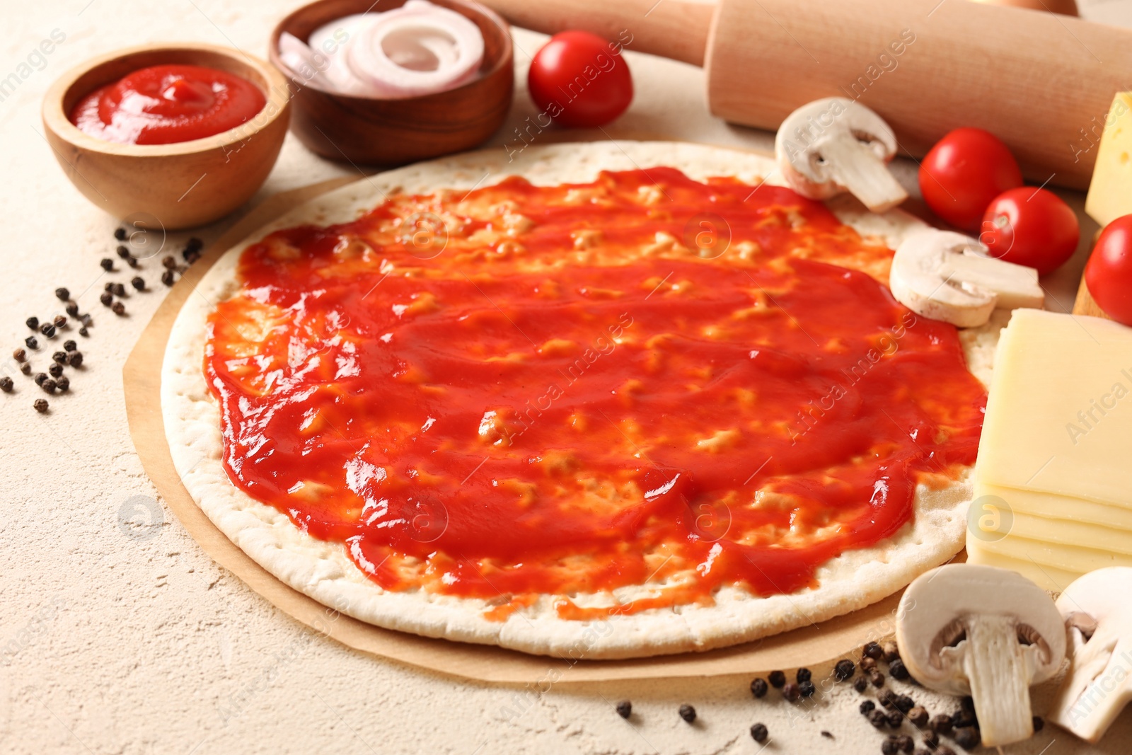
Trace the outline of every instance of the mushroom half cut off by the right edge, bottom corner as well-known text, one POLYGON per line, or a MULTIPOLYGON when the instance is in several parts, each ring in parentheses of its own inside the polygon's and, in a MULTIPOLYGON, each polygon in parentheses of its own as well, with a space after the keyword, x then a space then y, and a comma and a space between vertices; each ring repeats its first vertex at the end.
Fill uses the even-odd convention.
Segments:
POLYGON ((1112 566, 1075 580, 1057 599, 1070 667, 1049 720, 1097 741, 1132 700, 1132 568, 1112 566))

